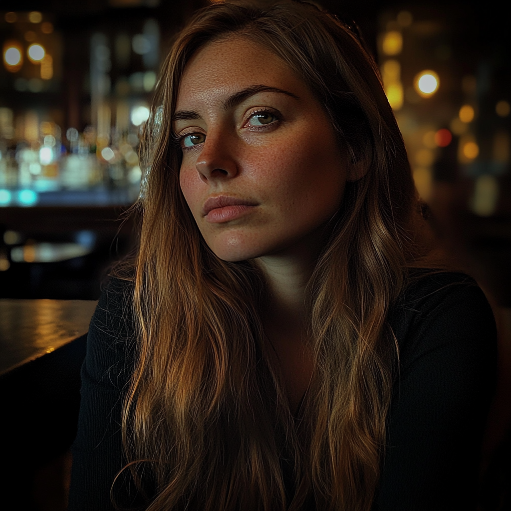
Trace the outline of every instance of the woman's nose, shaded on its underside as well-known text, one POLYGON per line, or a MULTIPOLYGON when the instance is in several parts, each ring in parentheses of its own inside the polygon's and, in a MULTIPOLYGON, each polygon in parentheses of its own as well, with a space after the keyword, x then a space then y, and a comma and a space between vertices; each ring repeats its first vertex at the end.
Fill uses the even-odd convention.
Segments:
POLYGON ((206 135, 195 167, 204 182, 229 179, 238 174, 238 165, 234 155, 235 142, 225 133, 211 130, 206 135))

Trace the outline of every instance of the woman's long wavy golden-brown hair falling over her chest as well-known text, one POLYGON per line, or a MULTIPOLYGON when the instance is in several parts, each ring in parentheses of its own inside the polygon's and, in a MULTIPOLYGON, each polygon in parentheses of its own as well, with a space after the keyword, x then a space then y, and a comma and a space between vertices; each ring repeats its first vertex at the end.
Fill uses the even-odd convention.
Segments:
POLYGON ((162 66, 141 156, 137 352, 122 431, 133 474, 142 465, 153 481, 147 509, 369 509, 398 360, 386 316, 425 249, 403 140, 357 31, 300 2, 198 11, 162 66), (314 372, 298 417, 263 350, 264 276, 216 257, 179 187, 179 81, 198 50, 230 36, 303 78, 349 165, 366 170, 346 184, 307 288, 314 372))

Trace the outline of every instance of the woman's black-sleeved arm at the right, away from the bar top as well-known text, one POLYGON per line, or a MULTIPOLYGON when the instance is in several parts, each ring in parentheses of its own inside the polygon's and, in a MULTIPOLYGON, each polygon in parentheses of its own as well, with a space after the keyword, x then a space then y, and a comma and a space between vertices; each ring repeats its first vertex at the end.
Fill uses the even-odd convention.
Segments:
POLYGON ((446 284, 448 275, 436 276, 443 285, 423 289, 423 298, 394 328, 401 372, 374 509, 468 511, 476 506, 496 329, 482 291, 459 277, 446 284))

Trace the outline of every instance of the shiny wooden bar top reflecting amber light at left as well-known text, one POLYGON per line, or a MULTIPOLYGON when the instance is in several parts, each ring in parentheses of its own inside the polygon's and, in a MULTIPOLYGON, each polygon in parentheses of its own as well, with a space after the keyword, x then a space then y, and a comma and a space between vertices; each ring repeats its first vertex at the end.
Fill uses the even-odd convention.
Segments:
POLYGON ((94 300, 0 299, 0 375, 85 334, 94 300))

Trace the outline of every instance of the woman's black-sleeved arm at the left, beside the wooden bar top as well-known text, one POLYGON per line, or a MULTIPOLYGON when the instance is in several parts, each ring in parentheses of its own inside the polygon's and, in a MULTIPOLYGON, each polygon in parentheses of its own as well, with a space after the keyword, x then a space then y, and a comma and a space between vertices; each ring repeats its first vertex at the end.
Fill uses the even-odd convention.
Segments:
POLYGON ((110 488, 125 466, 121 409, 132 345, 128 291, 125 281, 112 279, 90 322, 78 434, 72 447, 69 511, 113 509, 110 488))

